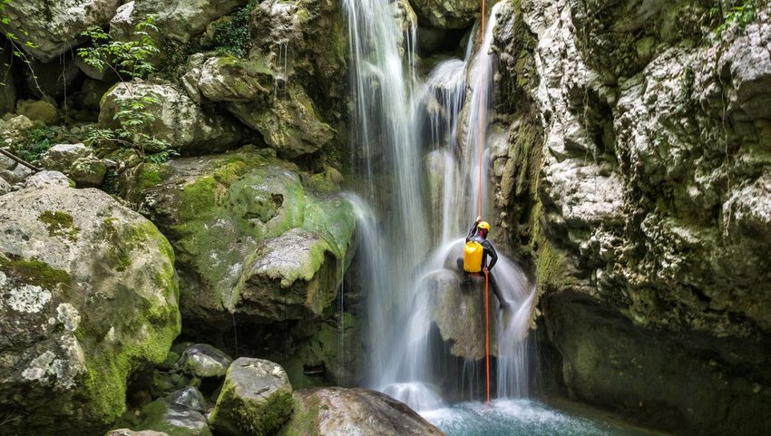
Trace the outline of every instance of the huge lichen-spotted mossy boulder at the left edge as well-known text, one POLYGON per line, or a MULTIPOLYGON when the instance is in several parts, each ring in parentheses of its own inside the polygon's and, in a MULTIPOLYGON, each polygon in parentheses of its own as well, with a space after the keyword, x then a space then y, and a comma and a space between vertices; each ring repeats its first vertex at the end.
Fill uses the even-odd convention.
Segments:
POLYGON ((0 197, 0 434, 103 431, 180 332, 171 246, 93 189, 0 197), (74 430, 77 429, 77 430, 74 430))

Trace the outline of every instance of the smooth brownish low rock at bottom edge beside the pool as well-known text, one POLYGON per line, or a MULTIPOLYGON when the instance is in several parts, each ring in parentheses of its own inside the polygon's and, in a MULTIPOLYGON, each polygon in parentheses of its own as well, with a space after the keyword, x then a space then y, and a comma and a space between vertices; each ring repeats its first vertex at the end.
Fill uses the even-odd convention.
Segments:
POLYGON ((295 413, 279 434, 333 436, 434 435, 444 433, 420 415, 380 392, 319 388, 294 393, 295 413))

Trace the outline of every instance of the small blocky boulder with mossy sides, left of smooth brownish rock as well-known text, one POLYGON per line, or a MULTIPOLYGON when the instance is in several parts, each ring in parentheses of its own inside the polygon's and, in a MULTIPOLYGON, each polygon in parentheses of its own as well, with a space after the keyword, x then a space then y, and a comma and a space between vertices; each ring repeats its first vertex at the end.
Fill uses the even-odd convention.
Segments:
POLYGON ((211 426, 229 436, 268 436, 292 414, 292 386, 276 363, 241 357, 230 365, 211 412, 211 426))

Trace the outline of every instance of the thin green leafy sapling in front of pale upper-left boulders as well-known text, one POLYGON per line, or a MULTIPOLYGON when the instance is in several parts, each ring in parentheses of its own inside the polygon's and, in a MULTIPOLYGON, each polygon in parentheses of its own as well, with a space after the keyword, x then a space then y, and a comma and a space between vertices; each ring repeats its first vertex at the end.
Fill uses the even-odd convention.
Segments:
POLYGON ((118 111, 112 117, 117 121, 116 129, 91 129, 88 131, 89 142, 114 142, 122 147, 139 151, 143 159, 150 161, 169 160, 176 151, 170 149, 165 140, 160 140, 150 133, 155 121, 155 114, 148 108, 159 102, 156 92, 137 86, 143 78, 155 72, 152 59, 160 53, 152 33, 158 32, 155 17, 148 15, 144 21, 136 24, 132 41, 114 41, 110 34, 100 27, 92 27, 83 32, 93 41, 92 47, 78 49, 83 62, 97 70, 110 69, 125 83, 127 94, 115 99, 118 111))

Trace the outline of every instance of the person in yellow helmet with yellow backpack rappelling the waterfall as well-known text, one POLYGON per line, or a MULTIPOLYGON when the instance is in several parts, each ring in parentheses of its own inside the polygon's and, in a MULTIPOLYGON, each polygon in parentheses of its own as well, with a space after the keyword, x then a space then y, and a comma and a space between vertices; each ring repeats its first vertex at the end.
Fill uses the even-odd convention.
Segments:
POLYGON ((490 224, 483 221, 482 217, 477 217, 469 229, 468 235, 466 235, 464 257, 458 258, 458 268, 464 272, 464 288, 471 285, 471 276, 484 276, 486 274, 490 286, 493 288, 493 294, 498 298, 501 308, 505 309, 509 307, 509 303, 503 299, 501 289, 491 271, 495 263, 498 262, 498 253, 495 252, 493 243, 487 240, 489 233, 490 224), (487 263, 488 259, 490 259, 489 264, 487 263))

